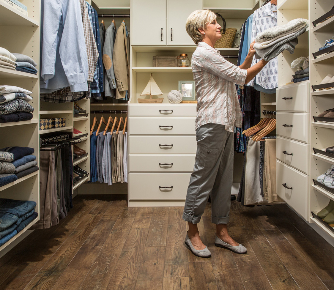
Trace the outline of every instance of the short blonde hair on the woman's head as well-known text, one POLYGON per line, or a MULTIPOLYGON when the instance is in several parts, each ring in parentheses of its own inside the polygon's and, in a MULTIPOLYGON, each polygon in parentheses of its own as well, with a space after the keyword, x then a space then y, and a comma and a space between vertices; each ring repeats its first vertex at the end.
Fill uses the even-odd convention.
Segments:
POLYGON ((206 25, 216 18, 217 15, 209 9, 195 10, 188 16, 186 30, 196 44, 203 39, 198 29, 205 29, 206 25))

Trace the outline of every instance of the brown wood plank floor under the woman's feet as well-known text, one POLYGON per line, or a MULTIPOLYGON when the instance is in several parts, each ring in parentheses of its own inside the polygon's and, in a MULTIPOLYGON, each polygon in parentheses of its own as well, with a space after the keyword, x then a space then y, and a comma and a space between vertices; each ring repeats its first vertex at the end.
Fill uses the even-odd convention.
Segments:
POLYGON ((207 204, 198 225, 211 258, 184 245, 182 207, 127 207, 79 195, 59 225, 36 230, 0 259, 1 290, 333 290, 334 248, 288 206, 231 202, 229 233, 247 249, 214 246, 207 204))

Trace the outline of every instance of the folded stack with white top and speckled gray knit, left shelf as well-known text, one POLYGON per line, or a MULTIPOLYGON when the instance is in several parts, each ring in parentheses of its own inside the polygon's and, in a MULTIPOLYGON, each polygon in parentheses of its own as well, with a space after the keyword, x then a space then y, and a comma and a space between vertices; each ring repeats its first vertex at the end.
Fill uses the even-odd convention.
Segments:
POLYGON ((34 108, 28 104, 32 92, 15 87, 0 85, 0 123, 31 120, 34 108))

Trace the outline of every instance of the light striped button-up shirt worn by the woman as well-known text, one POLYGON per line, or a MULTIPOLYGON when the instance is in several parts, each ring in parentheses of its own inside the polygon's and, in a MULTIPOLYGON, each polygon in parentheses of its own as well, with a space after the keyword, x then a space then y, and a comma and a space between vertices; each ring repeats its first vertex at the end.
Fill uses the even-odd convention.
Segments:
POLYGON ((196 85, 196 130, 207 124, 225 125, 233 132, 234 126, 242 126, 236 85, 244 85, 247 70, 230 63, 218 50, 205 42, 199 42, 191 58, 196 85))

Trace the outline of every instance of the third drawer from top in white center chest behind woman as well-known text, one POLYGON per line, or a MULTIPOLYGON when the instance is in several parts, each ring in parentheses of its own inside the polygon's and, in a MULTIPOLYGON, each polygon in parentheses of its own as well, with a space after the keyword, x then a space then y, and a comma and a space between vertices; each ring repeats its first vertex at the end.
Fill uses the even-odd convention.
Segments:
POLYGON ((129 153, 196 153, 196 136, 129 136, 129 153), (165 146, 169 145, 169 146, 165 146))

